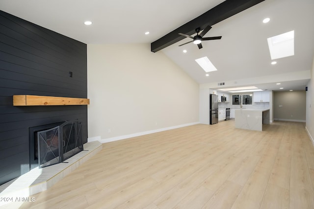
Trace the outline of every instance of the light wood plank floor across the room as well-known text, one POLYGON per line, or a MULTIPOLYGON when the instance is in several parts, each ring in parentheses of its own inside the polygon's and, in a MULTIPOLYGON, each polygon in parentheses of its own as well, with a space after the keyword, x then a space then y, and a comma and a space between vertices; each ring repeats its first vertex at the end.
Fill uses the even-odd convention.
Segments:
POLYGON ((21 208, 314 209, 314 146, 304 123, 265 131, 233 120, 103 144, 21 208))

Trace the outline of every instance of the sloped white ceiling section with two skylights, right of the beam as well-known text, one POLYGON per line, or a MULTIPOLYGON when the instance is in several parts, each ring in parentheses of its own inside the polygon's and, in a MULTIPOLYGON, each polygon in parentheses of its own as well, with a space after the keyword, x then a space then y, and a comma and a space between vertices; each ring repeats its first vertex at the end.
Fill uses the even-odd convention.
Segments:
MULTIPOLYGON (((314 1, 313 0, 266 0, 250 7, 228 19, 212 26, 206 36, 222 36, 221 40, 202 42, 203 49, 199 50, 193 43, 183 45, 189 38, 164 48, 170 59, 177 63, 187 74, 200 84, 234 81, 282 75, 277 82, 284 81, 289 73, 302 74, 312 68, 314 57, 314 1), (293 14, 293 15, 291 15, 293 14), (270 18, 263 24, 262 20, 270 18), (294 55, 277 59, 272 65, 267 38, 294 30, 294 55), (186 50, 186 53, 183 53, 186 50), (218 69, 206 77, 204 70, 198 66, 195 59, 207 56, 218 69)), ((305 89, 300 79, 302 89, 305 89)), ((294 80, 291 78, 291 81, 294 80)), ((285 80, 287 81, 287 80, 285 80)), ((226 82, 227 83, 227 82, 226 82)), ((260 83, 260 82, 258 82, 260 83)), ((269 83, 264 82, 263 83, 269 83)), ((298 87, 297 82, 291 82, 284 90, 298 87), (293 84, 293 85, 292 85, 293 84)), ((278 86, 273 85, 271 90, 278 86)), ((300 87, 298 87, 300 88, 300 87)))

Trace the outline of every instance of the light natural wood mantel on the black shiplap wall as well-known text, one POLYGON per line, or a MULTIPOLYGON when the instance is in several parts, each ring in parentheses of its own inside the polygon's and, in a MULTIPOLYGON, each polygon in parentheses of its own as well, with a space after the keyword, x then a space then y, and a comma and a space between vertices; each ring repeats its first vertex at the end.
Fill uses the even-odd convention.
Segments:
POLYGON ((89 99, 48 97, 37 95, 13 95, 13 106, 87 105, 89 99))

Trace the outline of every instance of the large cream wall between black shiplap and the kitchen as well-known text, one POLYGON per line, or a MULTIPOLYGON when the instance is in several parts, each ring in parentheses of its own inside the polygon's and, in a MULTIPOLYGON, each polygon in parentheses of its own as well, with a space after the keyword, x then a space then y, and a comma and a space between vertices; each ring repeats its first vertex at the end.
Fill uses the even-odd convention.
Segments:
POLYGON ((199 84, 149 44, 87 45, 87 80, 91 140, 199 121, 199 84))

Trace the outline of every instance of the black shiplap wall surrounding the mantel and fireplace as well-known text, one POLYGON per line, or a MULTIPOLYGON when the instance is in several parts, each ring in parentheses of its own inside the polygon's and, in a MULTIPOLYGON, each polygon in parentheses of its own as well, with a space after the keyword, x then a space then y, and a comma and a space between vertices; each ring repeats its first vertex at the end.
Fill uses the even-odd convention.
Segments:
POLYGON ((87 106, 13 106, 13 95, 87 98, 86 44, 0 11, 0 184, 29 170, 29 127, 79 119, 87 106), (73 78, 69 77, 73 72, 73 78))

